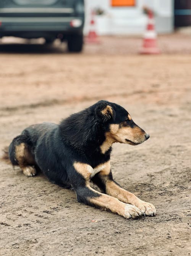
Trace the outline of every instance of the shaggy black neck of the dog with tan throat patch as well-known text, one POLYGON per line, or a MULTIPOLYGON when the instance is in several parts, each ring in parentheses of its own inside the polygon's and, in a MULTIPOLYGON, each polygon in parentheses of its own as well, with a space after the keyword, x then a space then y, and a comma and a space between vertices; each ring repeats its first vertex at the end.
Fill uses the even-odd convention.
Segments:
POLYGON ((108 155, 112 144, 116 142, 110 132, 105 132, 105 126, 101 122, 95 124, 95 120, 91 120, 91 116, 83 115, 82 118, 81 113, 73 114, 63 120, 59 130, 65 144, 85 155, 95 154, 95 152, 108 155), (86 125, 87 119, 89 124, 86 125), (76 122, 76 120, 80 122, 76 122))

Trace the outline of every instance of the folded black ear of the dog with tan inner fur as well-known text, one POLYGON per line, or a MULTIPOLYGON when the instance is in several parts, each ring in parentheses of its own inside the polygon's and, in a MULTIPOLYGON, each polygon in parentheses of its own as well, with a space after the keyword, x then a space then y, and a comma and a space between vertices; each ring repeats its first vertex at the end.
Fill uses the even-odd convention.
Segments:
POLYGON ((107 122, 110 119, 115 119, 115 110, 107 104, 101 104, 101 106, 98 106, 96 108, 96 112, 103 122, 107 122))

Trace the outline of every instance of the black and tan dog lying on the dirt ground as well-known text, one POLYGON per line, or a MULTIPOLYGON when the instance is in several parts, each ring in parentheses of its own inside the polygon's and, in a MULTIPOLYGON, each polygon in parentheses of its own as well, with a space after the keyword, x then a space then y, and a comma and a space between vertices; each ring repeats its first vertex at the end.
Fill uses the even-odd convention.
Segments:
POLYGON ((52 182, 73 187, 79 202, 137 218, 155 215, 155 207, 113 180, 110 154, 114 142, 138 145, 148 138, 123 107, 99 101, 59 125, 29 126, 13 139, 8 154, 26 176, 40 169, 52 182), (92 189, 91 181, 103 193, 92 189))

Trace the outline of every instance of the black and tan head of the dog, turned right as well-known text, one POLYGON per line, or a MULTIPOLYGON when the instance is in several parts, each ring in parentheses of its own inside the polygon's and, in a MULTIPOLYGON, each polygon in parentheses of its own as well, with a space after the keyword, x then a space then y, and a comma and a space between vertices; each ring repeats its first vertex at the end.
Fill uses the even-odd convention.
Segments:
POLYGON ((118 104, 99 101, 96 103, 95 112, 107 127, 105 136, 113 142, 138 145, 149 139, 149 134, 136 125, 129 113, 118 104))

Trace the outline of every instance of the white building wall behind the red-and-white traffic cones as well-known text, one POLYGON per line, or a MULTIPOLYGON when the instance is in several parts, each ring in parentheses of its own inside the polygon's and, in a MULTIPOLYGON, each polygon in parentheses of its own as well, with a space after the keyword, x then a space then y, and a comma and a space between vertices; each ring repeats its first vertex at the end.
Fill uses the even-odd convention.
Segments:
POLYGON ((136 0, 135 7, 111 7, 110 0, 85 0, 85 4, 85 34, 89 31, 91 10, 100 7, 105 12, 104 15, 96 15, 100 35, 140 35, 147 23, 147 17, 142 12, 144 5, 155 11, 157 32, 173 31, 173 0, 136 0))

